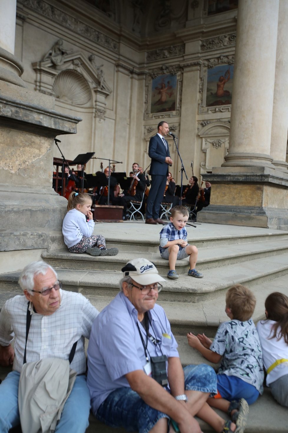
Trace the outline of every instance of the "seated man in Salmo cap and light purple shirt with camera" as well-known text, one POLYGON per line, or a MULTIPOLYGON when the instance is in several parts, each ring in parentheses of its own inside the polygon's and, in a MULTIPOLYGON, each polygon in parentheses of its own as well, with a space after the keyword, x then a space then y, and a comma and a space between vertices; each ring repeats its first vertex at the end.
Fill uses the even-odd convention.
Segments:
POLYGON ((183 372, 170 323, 156 304, 164 278, 146 259, 131 260, 122 272, 120 293, 96 317, 90 335, 93 414, 128 431, 167 433, 171 422, 181 433, 200 433, 197 414, 221 432, 224 420, 206 403, 217 393, 213 368, 189 365, 183 372))

